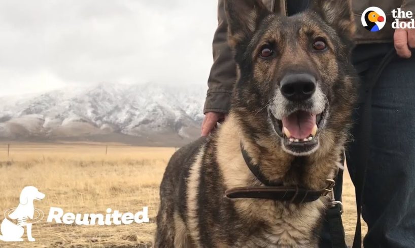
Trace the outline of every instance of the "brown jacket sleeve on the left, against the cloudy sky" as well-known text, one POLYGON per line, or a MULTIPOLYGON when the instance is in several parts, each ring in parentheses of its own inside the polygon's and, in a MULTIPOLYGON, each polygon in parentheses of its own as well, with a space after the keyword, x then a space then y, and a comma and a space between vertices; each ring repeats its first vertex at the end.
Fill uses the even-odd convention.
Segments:
POLYGON ((218 3, 218 28, 213 38, 213 65, 209 75, 209 90, 206 94, 203 113, 228 113, 233 83, 236 80, 236 65, 228 45, 228 23, 223 0, 218 3))

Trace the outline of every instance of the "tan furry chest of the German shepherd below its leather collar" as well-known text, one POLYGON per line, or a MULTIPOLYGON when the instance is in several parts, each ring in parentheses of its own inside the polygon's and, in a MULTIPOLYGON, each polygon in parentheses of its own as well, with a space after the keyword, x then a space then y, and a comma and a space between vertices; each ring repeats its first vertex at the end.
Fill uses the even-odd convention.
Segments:
POLYGON ((235 202, 235 209, 246 225, 258 227, 254 234, 240 236, 240 247, 317 247, 316 232, 324 209, 321 201, 287 208, 280 202, 242 199, 235 202))

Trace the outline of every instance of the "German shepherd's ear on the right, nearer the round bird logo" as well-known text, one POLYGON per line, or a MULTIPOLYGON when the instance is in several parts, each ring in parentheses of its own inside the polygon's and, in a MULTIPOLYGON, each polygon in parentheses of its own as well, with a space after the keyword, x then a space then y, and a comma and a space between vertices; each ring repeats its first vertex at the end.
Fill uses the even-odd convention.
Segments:
POLYGON ((352 12, 352 0, 313 0, 311 9, 335 28, 340 35, 352 39, 356 26, 352 12))

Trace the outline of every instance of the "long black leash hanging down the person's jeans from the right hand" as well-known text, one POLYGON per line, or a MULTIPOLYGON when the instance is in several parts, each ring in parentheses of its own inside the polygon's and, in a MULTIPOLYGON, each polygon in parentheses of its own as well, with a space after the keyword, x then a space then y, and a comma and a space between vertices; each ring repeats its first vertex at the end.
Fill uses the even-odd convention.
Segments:
POLYGON ((354 154, 359 157, 361 163, 357 167, 355 176, 355 192, 356 192, 356 208, 357 208, 357 222, 355 238, 353 240, 353 248, 362 247, 362 227, 360 216, 362 214, 362 203, 363 203, 363 190, 366 181, 366 173, 370 156, 370 140, 371 140, 371 105, 372 105, 372 90, 376 85, 376 82, 381 77, 382 72, 385 68, 397 57, 396 50, 391 49, 386 56, 382 59, 378 67, 370 75, 370 83, 365 89, 365 101, 362 105, 362 116, 360 116, 359 130, 357 130, 356 137, 361 137, 361 145, 358 154, 354 154))

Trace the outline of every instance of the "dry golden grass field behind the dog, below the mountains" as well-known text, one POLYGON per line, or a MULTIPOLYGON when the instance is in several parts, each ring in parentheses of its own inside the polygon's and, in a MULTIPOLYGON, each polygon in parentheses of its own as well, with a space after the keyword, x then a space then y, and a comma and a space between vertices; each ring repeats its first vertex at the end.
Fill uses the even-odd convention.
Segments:
MULTIPOLYGON (((151 247, 158 209, 158 188, 175 148, 94 143, 0 143, 0 222, 19 203, 25 186, 46 194, 35 206, 45 218, 33 225, 36 242, 1 242, 1 247, 151 247), (72 213, 101 213, 107 208, 136 213, 149 207, 150 223, 77 226, 46 222, 49 208, 72 213), (9 246, 7 246, 9 245, 9 246)), ((354 234, 354 188, 344 175, 343 223, 354 234)), ((27 240, 24 235, 24 240, 27 240)))

